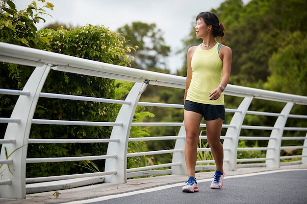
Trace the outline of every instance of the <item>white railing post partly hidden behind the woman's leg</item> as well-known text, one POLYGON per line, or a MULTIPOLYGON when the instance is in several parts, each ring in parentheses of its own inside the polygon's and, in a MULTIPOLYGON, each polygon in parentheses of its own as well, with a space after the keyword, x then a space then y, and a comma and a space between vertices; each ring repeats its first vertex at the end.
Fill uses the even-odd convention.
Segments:
POLYGON ((178 136, 184 136, 184 139, 177 139, 175 143, 175 150, 183 150, 182 152, 174 152, 172 163, 181 162, 179 166, 172 166, 172 174, 187 175, 186 163, 184 158, 184 146, 185 146, 185 128, 180 127, 178 136))

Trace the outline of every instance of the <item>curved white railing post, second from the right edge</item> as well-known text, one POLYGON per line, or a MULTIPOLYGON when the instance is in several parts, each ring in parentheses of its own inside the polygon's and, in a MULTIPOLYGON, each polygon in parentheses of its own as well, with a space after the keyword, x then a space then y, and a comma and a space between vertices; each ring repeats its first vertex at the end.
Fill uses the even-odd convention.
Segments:
POLYGON ((293 102, 288 102, 281 111, 281 116, 278 116, 274 129, 271 132, 268 149, 266 151, 265 165, 270 168, 280 167, 280 157, 281 157, 281 137, 283 134, 283 129, 288 119, 288 115, 293 107, 293 102))

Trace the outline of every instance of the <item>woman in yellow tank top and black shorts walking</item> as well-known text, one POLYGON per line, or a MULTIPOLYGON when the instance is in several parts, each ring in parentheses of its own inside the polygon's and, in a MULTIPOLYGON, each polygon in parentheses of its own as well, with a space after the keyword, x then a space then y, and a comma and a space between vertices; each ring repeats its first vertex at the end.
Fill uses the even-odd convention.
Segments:
POLYGON ((211 12, 201 12, 196 17, 196 37, 201 45, 192 46, 187 53, 187 75, 184 93, 184 127, 186 143, 184 156, 189 180, 183 192, 199 191, 195 180, 199 126, 205 119, 207 141, 215 161, 216 171, 210 188, 223 186, 223 145, 220 141, 225 119, 223 91, 229 82, 231 49, 216 41, 223 41, 225 28, 211 12))

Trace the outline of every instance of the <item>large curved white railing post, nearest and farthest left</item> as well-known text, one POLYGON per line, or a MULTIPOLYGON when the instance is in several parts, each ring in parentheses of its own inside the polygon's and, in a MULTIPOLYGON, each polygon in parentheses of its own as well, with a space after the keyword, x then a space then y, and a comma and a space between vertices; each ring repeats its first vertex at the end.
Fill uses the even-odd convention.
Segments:
POLYGON ((4 135, 4 139, 16 139, 16 143, 2 144, 0 159, 12 159, 13 163, 3 164, 0 168, 0 181, 11 180, 11 184, 0 185, 0 198, 26 198, 27 143, 39 94, 50 69, 47 65, 34 69, 23 89, 30 92, 30 95, 19 96, 12 112, 11 118, 18 118, 21 122, 8 123, 4 135), (5 154, 11 155, 6 158, 5 154))

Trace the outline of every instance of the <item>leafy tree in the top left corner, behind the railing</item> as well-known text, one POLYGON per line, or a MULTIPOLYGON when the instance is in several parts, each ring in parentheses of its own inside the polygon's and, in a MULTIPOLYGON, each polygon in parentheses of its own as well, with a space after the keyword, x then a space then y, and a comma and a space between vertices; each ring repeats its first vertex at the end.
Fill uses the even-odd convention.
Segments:
MULTIPOLYGON (((38 0, 45 3, 39 7, 35 0, 24 10, 17 11, 11 0, 3 0, 0 3, 0 42, 22 45, 34 48, 42 48, 42 43, 49 43, 44 37, 39 37, 35 23, 44 21, 43 15, 48 15, 45 9, 53 9, 53 4, 45 0, 38 0)), ((27 77, 32 68, 18 66, 16 64, 0 64, 0 87, 2 89, 20 90, 24 87, 27 77)), ((0 94, 0 115, 10 117, 16 103, 17 97, 0 94)), ((7 124, 1 123, 0 130, 5 130, 7 124)), ((0 138, 4 137, 5 131, 0 131, 0 138)))

